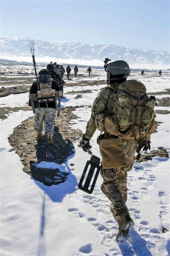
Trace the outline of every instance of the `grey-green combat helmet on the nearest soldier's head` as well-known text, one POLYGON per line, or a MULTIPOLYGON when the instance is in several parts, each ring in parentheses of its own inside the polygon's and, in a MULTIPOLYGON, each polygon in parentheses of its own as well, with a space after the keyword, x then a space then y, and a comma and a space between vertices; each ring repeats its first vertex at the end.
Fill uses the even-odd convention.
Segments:
POLYGON ((110 62, 105 70, 108 75, 108 80, 126 78, 131 73, 128 63, 124 60, 115 60, 110 62))

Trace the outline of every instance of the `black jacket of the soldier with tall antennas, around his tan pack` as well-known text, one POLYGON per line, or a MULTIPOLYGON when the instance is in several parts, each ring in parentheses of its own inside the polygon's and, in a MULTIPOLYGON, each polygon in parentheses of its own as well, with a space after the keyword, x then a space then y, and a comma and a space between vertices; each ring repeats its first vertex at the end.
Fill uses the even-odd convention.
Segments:
MULTIPOLYGON (((52 89, 55 89, 56 91, 60 91, 60 86, 57 84, 55 80, 52 81, 52 89)), ((30 87, 29 94, 37 94, 38 91, 38 86, 37 86, 37 81, 34 81, 32 86, 30 87)), ((30 102, 30 100, 29 100, 30 102)), ((56 108, 56 103, 55 102, 48 102, 48 108, 56 108)), ((34 106, 35 108, 38 108, 38 104, 36 101, 34 101, 34 106)), ((46 103, 39 103, 40 108, 46 108, 47 105, 46 103)))

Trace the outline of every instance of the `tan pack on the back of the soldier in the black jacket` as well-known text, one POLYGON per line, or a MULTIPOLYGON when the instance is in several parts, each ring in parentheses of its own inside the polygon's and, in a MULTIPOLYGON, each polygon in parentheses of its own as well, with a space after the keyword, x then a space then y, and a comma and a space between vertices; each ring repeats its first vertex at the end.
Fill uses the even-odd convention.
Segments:
POLYGON ((56 90, 52 89, 52 79, 48 79, 48 83, 43 84, 38 80, 37 100, 39 103, 55 102, 56 90))

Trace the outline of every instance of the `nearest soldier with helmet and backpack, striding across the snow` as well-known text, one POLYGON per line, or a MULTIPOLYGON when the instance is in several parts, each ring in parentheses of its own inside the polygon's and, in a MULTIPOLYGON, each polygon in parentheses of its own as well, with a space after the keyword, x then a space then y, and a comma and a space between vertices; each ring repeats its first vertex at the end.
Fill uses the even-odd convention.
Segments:
POLYGON ((134 225, 126 206, 127 172, 132 169, 135 152, 139 159, 141 148, 150 149, 156 99, 148 98, 141 81, 127 81, 131 72, 127 62, 110 62, 106 72, 108 85, 94 100, 81 146, 86 151, 96 129, 101 132, 97 139, 102 157, 101 190, 111 201, 110 211, 119 223, 116 240, 121 242, 128 239, 134 225))

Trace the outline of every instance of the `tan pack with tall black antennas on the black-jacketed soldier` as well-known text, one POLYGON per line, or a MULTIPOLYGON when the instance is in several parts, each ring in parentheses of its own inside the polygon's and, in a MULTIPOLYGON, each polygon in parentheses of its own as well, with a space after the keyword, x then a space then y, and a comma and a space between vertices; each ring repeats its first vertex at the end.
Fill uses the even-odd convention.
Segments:
MULTIPOLYGON (((28 41, 27 41, 28 43, 28 41)), ((29 45, 29 43, 28 43, 29 45)), ((37 64, 35 62, 35 57, 34 57, 34 41, 30 40, 30 45, 29 45, 29 49, 32 53, 32 58, 33 58, 33 66, 35 69, 35 74, 36 74, 36 80, 37 80, 37 86, 38 86, 38 90, 37 90, 37 103, 38 103, 38 108, 40 109, 40 105, 39 103, 46 103, 46 107, 48 108, 48 104, 47 103, 52 103, 55 102, 55 105, 57 107, 57 95, 56 95, 56 90, 52 89, 52 78, 49 78, 46 80, 46 75, 43 75, 43 80, 44 81, 40 81, 37 77, 37 64)), ((34 108, 34 103, 33 100, 31 100, 31 105, 33 108, 33 113, 35 113, 35 108, 34 108)), ((58 112, 57 112, 57 117, 60 116, 60 105, 61 105, 61 98, 58 95, 58 112)))

